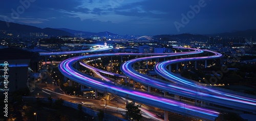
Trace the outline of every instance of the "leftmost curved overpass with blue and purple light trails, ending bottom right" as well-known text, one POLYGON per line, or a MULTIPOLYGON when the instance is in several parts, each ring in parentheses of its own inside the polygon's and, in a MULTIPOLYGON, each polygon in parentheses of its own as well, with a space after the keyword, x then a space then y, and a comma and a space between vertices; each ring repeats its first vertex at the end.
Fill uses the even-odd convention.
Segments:
POLYGON ((107 53, 73 57, 61 62, 58 68, 64 76, 70 78, 73 81, 76 81, 83 85, 90 86, 95 89, 107 91, 120 97, 128 97, 131 100, 143 104, 159 107, 161 109, 176 112, 179 114, 186 114, 187 116, 191 117, 201 117, 206 120, 214 120, 219 115, 219 112, 214 110, 184 104, 183 102, 173 101, 163 97, 153 96, 151 94, 142 93, 138 90, 124 87, 122 85, 115 85, 109 82, 102 82, 102 80, 100 79, 93 78, 91 76, 85 75, 75 70, 72 66, 75 62, 81 61, 82 59, 115 55, 131 55, 131 53, 107 53))

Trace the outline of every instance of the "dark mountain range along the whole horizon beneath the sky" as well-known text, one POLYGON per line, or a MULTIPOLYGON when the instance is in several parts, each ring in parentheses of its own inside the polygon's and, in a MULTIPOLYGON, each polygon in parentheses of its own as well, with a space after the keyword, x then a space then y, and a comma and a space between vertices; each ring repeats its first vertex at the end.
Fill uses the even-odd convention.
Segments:
MULTIPOLYGON (((83 32, 76 31, 68 28, 39 28, 30 25, 23 25, 18 23, 8 23, 0 20, 0 31, 10 31, 16 33, 44 33, 48 36, 82 36, 82 37, 108 37, 108 36, 118 36, 110 32, 83 32), (9 25, 9 26, 8 26, 9 25)), ((179 38, 184 40, 195 39, 195 40, 207 40, 208 37, 223 37, 223 38, 234 38, 234 37, 256 37, 256 29, 248 29, 246 31, 237 31, 232 33, 219 33, 219 34, 209 34, 209 35, 196 35, 196 34, 180 34, 180 35, 156 35, 155 38, 179 38)))

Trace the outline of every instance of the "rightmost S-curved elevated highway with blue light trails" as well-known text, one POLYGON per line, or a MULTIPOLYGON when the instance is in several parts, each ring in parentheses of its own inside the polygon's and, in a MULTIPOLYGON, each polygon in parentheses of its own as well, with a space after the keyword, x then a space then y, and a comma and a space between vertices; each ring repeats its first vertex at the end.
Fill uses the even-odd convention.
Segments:
POLYGON ((255 103, 256 103, 255 96, 246 95, 244 93, 234 92, 234 91, 231 91, 228 89, 223 89, 223 88, 219 88, 219 87, 215 87, 215 86, 205 85, 204 83, 200 83, 200 82, 197 82, 194 80, 189 80, 189 79, 178 76, 178 75, 168 71, 166 68, 170 64, 176 64, 176 63, 180 63, 180 62, 184 62, 184 61, 195 61, 195 59, 197 59, 197 61, 200 61, 200 60, 212 59, 212 57, 215 57, 215 56, 220 56, 219 53, 214 52, 214 51, 209 51, 209 50, 204 50, 204 51, 215 53, 215 55, 214 56, 204 56, 204 57, 193 57, 193 58, 180 58, 180 59, 173 59, 171 61, 161 62, 155 66, 155 71, 160 76, 164 77, 165 79, 167 79, 169 81, 180 83, 180 84, 185 84, 188 86, 193 86, 195 88, 201 88, 201 90, 203 90, 203 91, 215 93, 217 95, 219 94, 219 95, 223 95, 226 97, 232 97, 232 98, 236 98, 236 99, 240 99, 240 100, 244 100, 244 101, 249 101, 249 102, 251 102, 249 104, 252 104, 255 106, 255 103), (245 95, 247 97, 245 97, 245 95), (252 98, 248 98, 248 97, 252 97, 252 98))

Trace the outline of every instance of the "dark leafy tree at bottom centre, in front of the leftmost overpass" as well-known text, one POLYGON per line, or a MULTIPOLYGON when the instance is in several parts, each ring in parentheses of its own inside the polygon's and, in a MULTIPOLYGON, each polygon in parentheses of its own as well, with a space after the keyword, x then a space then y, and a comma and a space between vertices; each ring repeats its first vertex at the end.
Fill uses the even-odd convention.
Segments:
POLYGON ((142 115, 140 114, 140 109, 138 106, 135 106, 133 103, 128 103, 126 105, 126 115, 132 117, 135 120, 140 120, 142 115))

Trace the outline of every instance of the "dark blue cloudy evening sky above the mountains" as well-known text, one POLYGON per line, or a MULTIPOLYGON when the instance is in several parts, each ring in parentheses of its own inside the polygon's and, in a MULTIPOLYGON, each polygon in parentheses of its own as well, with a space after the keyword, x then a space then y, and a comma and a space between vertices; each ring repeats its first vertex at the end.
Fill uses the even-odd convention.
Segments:
POLYGON ((0 20, 119 35, 213 34, 256 28, 255 0, 21 1, 26 3, 1 0, 0 20), (196 6, 196 11, 190 6, 196 6), (187 19, 182 21, 182 14, 187 19))

